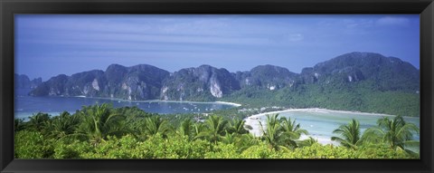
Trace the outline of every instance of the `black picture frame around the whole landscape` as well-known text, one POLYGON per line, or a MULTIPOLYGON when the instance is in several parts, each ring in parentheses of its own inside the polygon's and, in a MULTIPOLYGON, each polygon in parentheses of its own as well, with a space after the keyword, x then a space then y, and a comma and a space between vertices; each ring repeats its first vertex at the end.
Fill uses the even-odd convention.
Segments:
POLYGON ((432 0, 0 0, 1 172, 433 172, 432 0), (420 14, 420 159, 14 159, 14 14, 420 14))

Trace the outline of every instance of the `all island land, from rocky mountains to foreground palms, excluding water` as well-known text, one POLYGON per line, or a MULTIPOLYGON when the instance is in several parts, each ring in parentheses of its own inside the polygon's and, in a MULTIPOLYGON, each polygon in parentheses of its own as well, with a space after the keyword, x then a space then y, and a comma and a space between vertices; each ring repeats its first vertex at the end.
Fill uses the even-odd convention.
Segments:
MULTIPOLYGON (((22 81, 25 79, 15 80, 22 81)), ((37 83, 31 85, 32 97, 225 101, 235 107, 157 114, 103 103, 58 116, 39 112, 28 121, 15 119, 15 158, 19 159, 420 157, 413 149, 419 147, 419 141, 413 139, 419 129, 403 118, 420 116, 420 71, 409 62, 379 53, 346 53, 301 73, 273 65, 259 65, 248 72, 228 72, 209 65, 167 72, 145 64, 113 64, 106 71, 23 83, 37 83), (376 126, 363 132, 361 123, 351 120, 333 130, 331 139, 339 145, 322 145, 313 138, 301 139, 309 131, 296 120, 272 112, 306 108, 394 116, 378 119, 376 126), (258 127, 246 123, 259 113, 267 115, 260 115, 265 120, 259 121, 258 127), (261 135, 251 134, 253 128, 261 135)))

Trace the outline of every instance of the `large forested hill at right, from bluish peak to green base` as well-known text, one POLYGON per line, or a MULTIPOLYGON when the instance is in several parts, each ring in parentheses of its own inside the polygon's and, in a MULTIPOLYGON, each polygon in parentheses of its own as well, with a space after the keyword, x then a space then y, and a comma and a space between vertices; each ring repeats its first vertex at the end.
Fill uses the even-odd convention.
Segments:
MULTIPOLYGON (((273 75, 263 78, 269 81, 266 78, 273 79, 273 75)), ((303 69, 283 88, 262 90, 250 85, 222 100, 251 107, 316 107, 419 116, 420 71, 409 62, 379 53, 346 53, 303 69)))

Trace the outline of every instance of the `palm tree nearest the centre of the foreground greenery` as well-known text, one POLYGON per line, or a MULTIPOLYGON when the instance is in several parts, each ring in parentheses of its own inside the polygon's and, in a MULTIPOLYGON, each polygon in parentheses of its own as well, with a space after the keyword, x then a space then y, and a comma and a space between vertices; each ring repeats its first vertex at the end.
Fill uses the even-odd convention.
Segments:
POLYGON ((217 143, 225 135, 227 124, 228 120, 223 120, 220 116, 212 115, 205 120, 205 130, 200 132, 196 138, 204 138, 210 142, 217 143))

